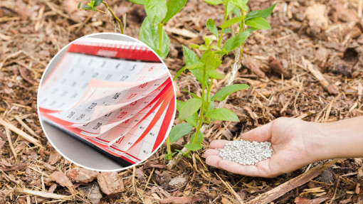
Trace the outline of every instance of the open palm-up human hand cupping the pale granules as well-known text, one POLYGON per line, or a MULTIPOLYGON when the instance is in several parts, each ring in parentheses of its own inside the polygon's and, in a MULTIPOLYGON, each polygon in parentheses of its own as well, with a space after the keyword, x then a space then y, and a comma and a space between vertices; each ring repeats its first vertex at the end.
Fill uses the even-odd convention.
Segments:
POLYGON ((318 133, 317 124, 304 122, 301 119, 281 117, 241 135, 248 141, 270 141, 273 154, 270 159, 260 161, 257 166, 244 166, 219 157, 219 151, 227 140, 216 140, 209 144, 204 153, 206 163, 216 168, 246 176, 275 177, 282 173, 294 171, 302 166, 317 161, 312 153, 313 146, 319 144, 315 138, 318 133))

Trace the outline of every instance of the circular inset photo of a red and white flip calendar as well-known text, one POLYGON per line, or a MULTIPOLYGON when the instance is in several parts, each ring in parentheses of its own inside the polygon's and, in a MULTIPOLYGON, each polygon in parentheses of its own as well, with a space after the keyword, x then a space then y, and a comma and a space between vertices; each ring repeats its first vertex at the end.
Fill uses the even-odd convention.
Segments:
POLYGON ((48 140, 65 159, 95 171, 122 170, 152 156, 175 111, 167 66, 147 45, 118 33, 66 45, 38 90, 48 140))

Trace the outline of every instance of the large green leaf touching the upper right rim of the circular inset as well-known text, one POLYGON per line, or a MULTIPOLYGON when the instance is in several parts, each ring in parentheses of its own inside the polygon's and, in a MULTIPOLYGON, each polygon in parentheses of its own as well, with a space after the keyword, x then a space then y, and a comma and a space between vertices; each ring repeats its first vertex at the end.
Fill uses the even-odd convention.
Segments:
MULTIPOLYGON (((157 51, 159 47, 159 33, 157 26, 152 26, 152 23, 149 21, 149 17, 144 19, 140 28, 140 41, 144 42, 145 44, 149 45, 150 48, 157 51)), ((167 57, 169 53, 169 38, 167 33, 162 29, 162 53, 157 54, 160 58, 164 59, 167 57)))

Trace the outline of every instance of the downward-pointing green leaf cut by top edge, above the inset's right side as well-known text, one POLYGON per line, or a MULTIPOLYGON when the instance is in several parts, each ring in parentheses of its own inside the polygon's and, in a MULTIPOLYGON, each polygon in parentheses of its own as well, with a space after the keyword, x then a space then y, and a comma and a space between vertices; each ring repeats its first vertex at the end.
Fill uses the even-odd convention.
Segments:
POLYGON ((167 0, 144 0, 144 9, 152 26, 156 26, 167 14, 167 0))

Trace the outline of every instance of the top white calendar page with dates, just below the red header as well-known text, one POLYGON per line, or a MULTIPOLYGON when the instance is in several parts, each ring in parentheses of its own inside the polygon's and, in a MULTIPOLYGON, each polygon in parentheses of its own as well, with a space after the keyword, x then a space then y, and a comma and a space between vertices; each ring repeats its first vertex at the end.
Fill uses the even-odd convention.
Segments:
POLYGON ((53 112, 70 109, 97 89, 99 97, 102 97, 157 80, 163 75, 167 75, 167 71, 162 63, 66 53, 56 70, 42 83, 39 107, 53 112), (91 80, 93 83, 90 83, 91 80), (109 84, 102 85, 102 81, 119 82, 120 85, 112 90, 109 84), (103 86, 106 90, 102 90, 103 86))

